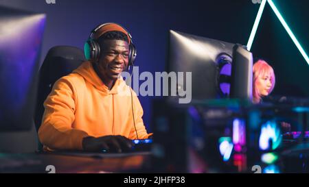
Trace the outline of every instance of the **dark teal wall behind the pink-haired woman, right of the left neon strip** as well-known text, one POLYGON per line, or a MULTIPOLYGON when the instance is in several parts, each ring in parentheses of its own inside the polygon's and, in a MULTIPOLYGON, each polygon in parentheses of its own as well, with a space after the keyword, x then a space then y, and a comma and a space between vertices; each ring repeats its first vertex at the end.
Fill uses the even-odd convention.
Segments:
MULTIPOLYGON (((304 50, 309 52, 309 1, 274 1, 304 50)), ((268 5, 255 36, 252 51, 273 66, 276 75, 274 95, 309 96, 309 64, 297 49, 268 5)))

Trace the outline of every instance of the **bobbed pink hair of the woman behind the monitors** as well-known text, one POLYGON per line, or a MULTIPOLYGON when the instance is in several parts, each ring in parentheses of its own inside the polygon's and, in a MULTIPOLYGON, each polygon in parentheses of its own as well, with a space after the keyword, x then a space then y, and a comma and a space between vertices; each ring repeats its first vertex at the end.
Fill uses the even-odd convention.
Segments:
POLYGON ((260 103, 261 101, 261 95, 258 91, 258 88, 255 86, 258 77, 264 77, 265 75, 271 75, 271 90, 269 93, 273 91, 273 88, 275 87, 275 73, 273 71, 273 68, 267 64, 264 60, 258 60, 253 65, 253 103, 260 103))

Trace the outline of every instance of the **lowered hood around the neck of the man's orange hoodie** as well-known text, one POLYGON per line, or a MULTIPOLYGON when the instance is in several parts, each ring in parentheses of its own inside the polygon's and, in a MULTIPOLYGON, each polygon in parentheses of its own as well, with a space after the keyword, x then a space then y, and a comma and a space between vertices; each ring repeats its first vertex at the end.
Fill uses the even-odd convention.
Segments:
POLYGON ((125 91, 126 87, 128 87, 122 76, 119 76, 113 88, 108 90, 108 87, 102 82, 98 74, 95 73, 93 65, 89 61, 83 62, 73 73, 78 73, 80 76, 84 77, 87 82, 106 94, 117 94, 125 91))

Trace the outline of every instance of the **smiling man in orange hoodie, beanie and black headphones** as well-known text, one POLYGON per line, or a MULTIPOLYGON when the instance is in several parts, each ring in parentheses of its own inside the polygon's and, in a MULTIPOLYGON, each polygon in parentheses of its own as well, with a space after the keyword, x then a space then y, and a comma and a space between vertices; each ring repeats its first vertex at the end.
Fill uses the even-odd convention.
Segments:
POLYGON ((88 59, 60 78, 45 100, 38 138, 45 149, 122 152, 146 132, 143 108, 120 73, 133 65, 130 34, 115 23, 96 27, 85 44, 88 59))

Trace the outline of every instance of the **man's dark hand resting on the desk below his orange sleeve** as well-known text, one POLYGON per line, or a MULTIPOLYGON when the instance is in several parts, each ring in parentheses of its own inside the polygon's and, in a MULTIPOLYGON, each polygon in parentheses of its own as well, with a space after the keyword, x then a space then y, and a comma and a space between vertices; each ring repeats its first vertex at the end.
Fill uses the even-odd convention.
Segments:
POLYGON ((99 138, 86 137, 82 140, 84 151, 103 151, 122 153, 134 146, 132 140, 124 136, 102 136, 99 138))

